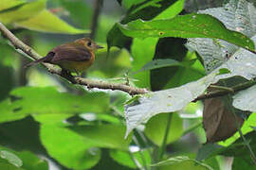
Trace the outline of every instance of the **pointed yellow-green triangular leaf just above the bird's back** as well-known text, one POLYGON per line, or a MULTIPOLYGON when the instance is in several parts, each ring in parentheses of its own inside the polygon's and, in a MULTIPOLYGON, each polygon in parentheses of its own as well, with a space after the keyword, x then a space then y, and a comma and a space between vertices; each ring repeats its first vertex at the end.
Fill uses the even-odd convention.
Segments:
POLYGON ((63 20, 53 15, 47 9, 44 9, 34 17, 26 21, 15 23, 16 26, 25 27, 27 29, 62 34, 82 34, 89 33, 89 30, 78 29, 66 24, 63 20))

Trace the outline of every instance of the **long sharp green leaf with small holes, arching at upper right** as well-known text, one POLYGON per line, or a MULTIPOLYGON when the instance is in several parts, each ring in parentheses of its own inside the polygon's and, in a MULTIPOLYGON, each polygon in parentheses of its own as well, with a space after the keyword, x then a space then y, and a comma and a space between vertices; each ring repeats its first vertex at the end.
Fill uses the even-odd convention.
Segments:
POLYGON ((148 22, 137 20, 119 25, 119 28, 124 35, 133 38, 215 38, 254 50, 254 43, 247 36, 227 29, 219 20, 207 14, 188 14, 148 22))

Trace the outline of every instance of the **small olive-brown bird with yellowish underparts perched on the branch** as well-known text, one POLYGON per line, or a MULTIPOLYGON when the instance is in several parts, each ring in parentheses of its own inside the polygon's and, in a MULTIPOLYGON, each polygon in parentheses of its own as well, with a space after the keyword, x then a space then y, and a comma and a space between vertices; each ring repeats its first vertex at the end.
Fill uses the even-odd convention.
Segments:
POLYGON ((56 46, 45 58, 34 60, 25 67, 46 62, 59 65, 65 73, 75 72, 79 75, 92 65, 95 60, 94 52, 99 48, 102 47, 89 38, 78 39, 56 46))

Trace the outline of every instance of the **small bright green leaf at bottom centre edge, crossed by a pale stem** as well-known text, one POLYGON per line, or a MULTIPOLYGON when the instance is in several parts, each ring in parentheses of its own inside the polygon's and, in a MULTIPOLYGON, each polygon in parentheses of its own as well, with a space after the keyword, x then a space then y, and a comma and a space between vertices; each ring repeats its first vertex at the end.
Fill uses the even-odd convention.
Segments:
POLYGON ((148 166, 151 164, 151 156, 149 150, 141 150, 133 153, 129 153, 127 151, 121 151, 121 150, 110 150, 110 157, 119 162, 119 164, 128 166, 130 168, 137 168, 136 161, 138 161, 142 166, 148 166), (146 164, 144 164, 144 161, 146 164))

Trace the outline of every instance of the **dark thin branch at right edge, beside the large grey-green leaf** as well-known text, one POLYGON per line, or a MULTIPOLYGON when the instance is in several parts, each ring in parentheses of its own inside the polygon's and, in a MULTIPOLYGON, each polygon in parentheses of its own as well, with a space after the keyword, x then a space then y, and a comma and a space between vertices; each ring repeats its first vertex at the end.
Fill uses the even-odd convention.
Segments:
POLYGON ((205 93, 201 94, 198 97, 196 97, 192 102, 196 102, 197 100, 203 100, 207 98, 213 98, 213 97, 219 97, 219 96, 224 96, 227 94, 231 93, 237 93, 239 91, 245 90, 253 85, 256 84, 256 80, 250 80, 245 83, 241 83, 235 86, 232 86, 229 88, 229 90, 223 90, 223 91, 216 91, 216 92, 211 92, 211 93, 205 93), (231 91, 230 91, 231 90, 231 91))

